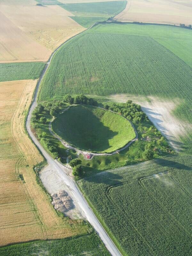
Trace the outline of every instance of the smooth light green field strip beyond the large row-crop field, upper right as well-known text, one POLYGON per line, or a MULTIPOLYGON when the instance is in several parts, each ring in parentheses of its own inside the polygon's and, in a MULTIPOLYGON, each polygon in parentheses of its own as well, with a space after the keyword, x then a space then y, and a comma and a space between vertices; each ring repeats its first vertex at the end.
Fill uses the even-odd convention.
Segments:
POLYGON ((192 30, 174 26, 111 23, 98 25, 90 32, 93 33, 93 31, 94 33, 150 36, 192 68, 192 30))

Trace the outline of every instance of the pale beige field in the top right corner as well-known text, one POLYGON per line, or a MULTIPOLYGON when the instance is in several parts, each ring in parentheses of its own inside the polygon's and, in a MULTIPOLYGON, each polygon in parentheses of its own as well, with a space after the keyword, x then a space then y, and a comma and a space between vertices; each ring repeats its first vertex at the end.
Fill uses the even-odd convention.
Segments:
POLYGON ((139 21, 179 25, 192 24, 192 1, 130 0, 118 21, 139 21))

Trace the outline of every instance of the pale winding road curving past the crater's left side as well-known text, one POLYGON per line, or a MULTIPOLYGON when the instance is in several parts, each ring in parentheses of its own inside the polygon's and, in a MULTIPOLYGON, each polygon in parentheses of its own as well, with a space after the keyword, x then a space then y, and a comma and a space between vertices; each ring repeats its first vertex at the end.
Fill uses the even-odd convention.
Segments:
POLYGON ((60 47, 61 47, 61 45, 50 56, 48 62, 46 63, 46 66, 45 66, 45 68, 44 68, 44 70, 41 74, 41 77, 40 77, 40 79, 37 83, 36 91, 35 91, 35 94, 34 94, 34 100, 33 100, 33 103, 31 105, 30 109, 29 109, 27 120, 26 120, 26 129, 27 129, 27 132, 28 132, 29 136, 31 137, 33 142, 36 144, 37 148, 39 148, 39 150, 44 155, 45 159, 47 160, 48 165, 51 165, 51 169, 59 175, 60 179, 63 180, 63 182, 65 182, 69 191, 71 192, 71 193, 69 193, 69 195, 74 199, 74 201, 77 202, 79 208, 82 210, 82 215, 84 216, 84 218, 86 220, 88 220, 90 222, 92 227, 99 234, 102 242, 105 244, 108 251, 111 253, 112 256, 121 256, 121 253, 117 249, 116 245, 113 243, 111 238, 108 236, 107 232, 105 231, 105 229, 102 227, 102 225, 100 224, 97 217, 92 212, 92 209, 89 208, 89 205, 88 205, 87 201, 85 200, 84 196, 81 194, 81 192, 78 189, 76 183, 67 175, 63 166, 61 167, 61 165, 57 161, 55 161, 46 152, 46 150, 42 147, 40 142, 36 139, 35 135, 31 131, 30 120, 31 120, 32 112, 33 112, 34 108, 37 106, 37 93, 38 93, 39 85, 42 81, 42 78, 43 78, 45 72, 47 71, 47 68, 49 67, 49 64, 52 60, 53 55, 55 54, 55 52, 60 47))

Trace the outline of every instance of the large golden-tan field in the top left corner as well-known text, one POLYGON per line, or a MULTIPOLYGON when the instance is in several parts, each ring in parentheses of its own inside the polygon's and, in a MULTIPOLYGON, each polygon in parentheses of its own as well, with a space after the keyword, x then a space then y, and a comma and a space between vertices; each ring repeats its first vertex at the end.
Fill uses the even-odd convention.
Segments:
POLYGON ((36 4, 0 0, 0 63, 47 61, 60 44, 85 30, 60 6, 36 4))

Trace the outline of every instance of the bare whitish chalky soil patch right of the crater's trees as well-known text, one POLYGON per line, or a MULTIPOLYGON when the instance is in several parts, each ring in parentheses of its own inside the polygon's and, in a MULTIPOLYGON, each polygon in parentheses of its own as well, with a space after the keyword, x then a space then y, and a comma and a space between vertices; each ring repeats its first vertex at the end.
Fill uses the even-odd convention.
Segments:
POLYGON ((141 106, 150 121, 166 137, 171 147, 176 151, 182 148, 180 136, 185 136, 192 131, 192 125, 181 121, 172 115, 172 111, 180 104, 179 99, 162 100, 155 97, 133 97, 125 94, 112 95, 110 97, 116 102, 132 100, 141 106))

